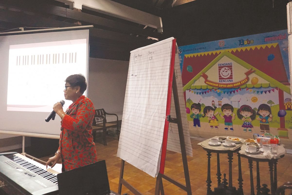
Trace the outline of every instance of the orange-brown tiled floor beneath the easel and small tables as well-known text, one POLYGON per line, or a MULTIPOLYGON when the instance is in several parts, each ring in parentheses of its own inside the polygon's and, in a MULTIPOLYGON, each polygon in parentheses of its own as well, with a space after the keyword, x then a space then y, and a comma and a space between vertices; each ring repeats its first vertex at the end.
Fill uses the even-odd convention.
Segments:
MULTIPOLYGON (((192 194, 206 194, 206 179, 207 179, 207 155, 201 146, 197 145, 199 140, 191 139, 193 148, 193 157, 187 157, 190 182, 192 187, 192 194)), ((119 175, 121 159, 116 157, 118 147, 118 140, 112 137, 107 137, 107 146, 96 143, 97 153, 99 160, 105 160, 107 164, 107 173, 109 177, 109 185, 111 190, 118 191, 119 175)), ((233 186, 238 188, 238 158, 237 155, 233 156, 233 186)), ((44 158, 45 160, 45 158, 44 158)), ((185 184, 183 164, 180 153, 168 151, 166 154, 165 175, 173 178, 174 180, 185 184)), ((226 173, 228 179, 228 159, 227 154, 220 154, 220 167, 221 173, 226 173)), ((248 160, 241 158, 241 168, 243 177, 243 190, 244 194, 250 194, 250 172, 248 168, 248 160)), ((278 186, 284 182, 292 181, 292 155, 286 154, 284 158, 278 161, 278 186)), ((217 187, 217 161, 216 155, 211 156, 211 180, 212 190, 217 187)), ((222 176, 223 177, 223 176, 222 176)), ((253 165, 253 179, 256 188, 256 164, 253 165)), ((128 181, 133 187, 145 195, 152 195, 155 192, 156 178, 147 175, 145 172, 135 168, 134 166, 125 163, 124 179, 128 181)), ((229 181, 227 181, 229 182, 229 181)), ((260 182, 266 183, 270 188, 270 171, 267 163, 260 163, 260 182)), ((179 187, 163 180, 164 192, 168 194, 187 194, 179 187)), ((131 193, 126 187, 122 187, 122 193, 131 193)), ((256 189, 255 189, 256 193, 256 189)))

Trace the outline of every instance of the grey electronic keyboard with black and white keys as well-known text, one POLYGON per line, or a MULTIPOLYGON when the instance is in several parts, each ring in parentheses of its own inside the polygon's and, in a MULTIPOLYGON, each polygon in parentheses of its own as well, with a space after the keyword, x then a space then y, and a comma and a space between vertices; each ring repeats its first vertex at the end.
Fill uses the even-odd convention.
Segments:
POLYGON ((0 183, 13 195, 58 194, 57 175, 19 153, 0 155, 0 183))

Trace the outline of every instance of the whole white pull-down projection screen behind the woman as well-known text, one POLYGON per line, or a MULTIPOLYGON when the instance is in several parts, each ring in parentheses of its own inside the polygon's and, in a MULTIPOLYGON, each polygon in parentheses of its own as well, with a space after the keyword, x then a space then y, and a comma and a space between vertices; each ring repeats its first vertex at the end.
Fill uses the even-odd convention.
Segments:
MULTIPOLYGON (((60 117, 45 122, 64 100, 65 79, 88 80, 89 29, 32 31, 0 36, 0 130, 60 135, 60 117)), ((87 91, 84 92, 87 96, 87 91)))

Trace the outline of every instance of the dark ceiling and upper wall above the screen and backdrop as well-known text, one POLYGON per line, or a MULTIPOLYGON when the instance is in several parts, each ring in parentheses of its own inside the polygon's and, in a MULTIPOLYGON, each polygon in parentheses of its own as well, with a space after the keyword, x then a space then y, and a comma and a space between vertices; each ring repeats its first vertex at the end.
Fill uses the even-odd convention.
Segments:
POLYGON ((93 25, 90 57, 128 61, 130 51, 175 37, 178 46, 287 29, 288 0, 112 0, 160 16, 163 34, 86 8, 81 12, 55 0, 0 0, 0 31, 93 25))

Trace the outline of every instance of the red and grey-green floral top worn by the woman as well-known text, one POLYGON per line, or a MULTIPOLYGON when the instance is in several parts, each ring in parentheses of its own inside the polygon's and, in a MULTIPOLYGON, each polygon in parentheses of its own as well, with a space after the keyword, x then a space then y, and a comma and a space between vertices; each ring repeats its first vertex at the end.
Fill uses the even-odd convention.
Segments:
POLYGON ((59 150, 62 170, 68 171, 97 162, 92 136, 92 121, 95 114, 91 100, 79 97, 66 110, 61 121, 59 150))

